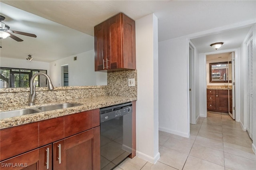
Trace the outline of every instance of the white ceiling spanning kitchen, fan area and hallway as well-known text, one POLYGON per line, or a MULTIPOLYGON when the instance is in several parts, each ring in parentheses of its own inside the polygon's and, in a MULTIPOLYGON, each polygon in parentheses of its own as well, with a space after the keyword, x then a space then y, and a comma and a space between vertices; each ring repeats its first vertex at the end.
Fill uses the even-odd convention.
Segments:
MULTIPOLYGON (((26 55, 31 54, 35 60, 42 61, 45 58, 47 62, 93 49, 94 26, 118 12, 124 12, 134 20, 154 13, 158 18, 158 41, 232 24, 239 25, 239 23, 246 21, 256 22, 255 0, 1 0, 0 9, 1 15, 6 17, 4 22, 11 27, 11 30, 33 33, 38 36, 37 38, 30 38, 18 35, 24 42, 15 42, 11 38, 2 40, 1 56, 16 51, 18 54, 9 56, 25 58, 26 55), (6 4, 37 16, 32 14, 27 16, 28 13, 22 13, 6 4), (38 19, 38 16, 59 24, 42 20, 41 17, 38 19), (73 38, 67 36, 68 28, 60 24, 74 29, 72 31, 73 38), (50 28, 58 30, 58 34, 50 32, 50 28), (47 37, 47 34, 50 37, 47 37), (10 46, 9 50, 5 50, 7 49, 6 46, 10 46)), ((213 50, 209 48, 209 45, 220 39, 224 42, 222 49, 225 47, 236 48, 239 46, 238 43, 242 43, 241 41, 249 29, 222 32, 221 35, 215 34, 197 38, 193 39, 192 42, 195 43, 199 51, 203 52, 213 50)))

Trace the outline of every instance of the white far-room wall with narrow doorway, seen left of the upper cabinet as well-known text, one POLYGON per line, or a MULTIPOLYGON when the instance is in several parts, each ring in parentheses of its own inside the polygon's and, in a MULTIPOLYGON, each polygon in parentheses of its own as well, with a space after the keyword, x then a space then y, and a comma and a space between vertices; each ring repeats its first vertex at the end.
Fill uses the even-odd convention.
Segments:
POLYGON ((107 85, 107 73, 94 71, 94 50, 90 50, 50 63, 50 77, 55 87, 62 85, 61 66, 66 64, 69 71, 69 86, 107 85))

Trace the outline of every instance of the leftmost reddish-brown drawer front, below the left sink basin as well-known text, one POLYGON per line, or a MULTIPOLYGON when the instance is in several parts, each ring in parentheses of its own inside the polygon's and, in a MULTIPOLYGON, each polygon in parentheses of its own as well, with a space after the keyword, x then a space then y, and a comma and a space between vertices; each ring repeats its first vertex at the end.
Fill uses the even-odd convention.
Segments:
POLYGON ((38 148, 38 122, 0 130, 0 160, 38 148))

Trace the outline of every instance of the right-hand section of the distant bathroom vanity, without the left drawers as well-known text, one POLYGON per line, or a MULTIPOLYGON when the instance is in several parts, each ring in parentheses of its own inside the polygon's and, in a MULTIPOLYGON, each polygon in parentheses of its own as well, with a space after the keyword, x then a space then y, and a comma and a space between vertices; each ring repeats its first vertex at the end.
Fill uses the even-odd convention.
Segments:
POLYGON ((216 90, 216 109, 228 113, 228 90, 216 90))

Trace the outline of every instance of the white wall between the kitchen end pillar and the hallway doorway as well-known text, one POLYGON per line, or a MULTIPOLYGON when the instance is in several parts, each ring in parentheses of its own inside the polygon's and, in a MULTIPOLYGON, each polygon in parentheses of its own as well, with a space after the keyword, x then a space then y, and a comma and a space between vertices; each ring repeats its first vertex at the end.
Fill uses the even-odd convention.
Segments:
POLYGON ((189 136, 188 40, 158 43, 159 130, 189 136))

